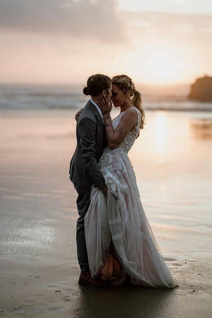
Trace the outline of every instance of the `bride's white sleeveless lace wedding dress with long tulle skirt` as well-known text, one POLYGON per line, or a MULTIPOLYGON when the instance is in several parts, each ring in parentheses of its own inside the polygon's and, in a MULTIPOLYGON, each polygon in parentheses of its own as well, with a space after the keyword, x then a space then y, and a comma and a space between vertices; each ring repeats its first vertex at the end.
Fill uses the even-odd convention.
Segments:
MULTIPOLYGON (((136 108, 135 108, 136 109, 136 108)), ((128 151, 138 135, 137 125, 115 149, 108 146, 99 160, 107 185, 107 198, 99 188, 91 194, 85 216, 85 238, 92 277, 111 279, 120 267, 109 253, 111 238, 115 252, 131 283, 151 287, 175 287, 143 210, 128 151)), ((112 120, 113 129, 122 115, 112 120)))

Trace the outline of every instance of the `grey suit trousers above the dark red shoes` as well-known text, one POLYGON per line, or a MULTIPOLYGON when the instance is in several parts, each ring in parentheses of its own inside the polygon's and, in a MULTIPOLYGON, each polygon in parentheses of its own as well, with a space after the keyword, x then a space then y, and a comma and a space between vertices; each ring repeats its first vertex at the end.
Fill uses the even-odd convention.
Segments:
POLYGON ((88 253, 85 242, 85 225, 84 218, 85 214, 88 211, 89 205, 91 203, 90 196, 91 190, 82 189, 74 184, 74 188, 77 190, 77 209, 79 213, 79 218, 77 220, 77 257, 79 261, 80 270, 85 273, 86 270, 89 270, 88 263, 88 253))

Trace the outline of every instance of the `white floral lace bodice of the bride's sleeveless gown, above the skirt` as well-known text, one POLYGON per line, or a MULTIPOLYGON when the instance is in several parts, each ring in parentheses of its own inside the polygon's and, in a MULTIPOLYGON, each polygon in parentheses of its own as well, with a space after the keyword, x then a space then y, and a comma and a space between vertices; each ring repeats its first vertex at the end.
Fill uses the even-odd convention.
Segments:
MULTIPOLYGON (((135 108, 135 107, 133 107, 135 108)), ((105 148, 104 151, 106 151, 106 149, 108 151, 116 151, 117 149, 119 150, 122 150, 122 151, 125 151, 126 153, 128 153, 128 151, 132 148, 133 146, 133 143, 135 142, 135 139, 139 133, 139 128, 140 128, 140 118, 139 118, 139 111, 137 108, 135 108, 136 112, 137 112, 137 124, 134 126, 133 130, 130 131, 127 135, 127 137, 123 140, 123 142, 115 149, 110 149, 108 146, 105 148)), ((112 120, 112 126, 113 126, 113 129, 115 130, 121 120, 121 117, 123 116, 124 112, 119 114, 117 117, 115 117, 113 120, 112 120)))

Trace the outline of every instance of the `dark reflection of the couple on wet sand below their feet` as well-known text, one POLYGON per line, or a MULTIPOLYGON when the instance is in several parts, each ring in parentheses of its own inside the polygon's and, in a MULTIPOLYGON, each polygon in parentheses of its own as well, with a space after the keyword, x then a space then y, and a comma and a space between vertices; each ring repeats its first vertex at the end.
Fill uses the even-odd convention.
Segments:
POLYGON ((124 285, 98 290, 83 287, 78 299, 77 317, 174 317, 177 301, 174 289, 153 289, 124 285))

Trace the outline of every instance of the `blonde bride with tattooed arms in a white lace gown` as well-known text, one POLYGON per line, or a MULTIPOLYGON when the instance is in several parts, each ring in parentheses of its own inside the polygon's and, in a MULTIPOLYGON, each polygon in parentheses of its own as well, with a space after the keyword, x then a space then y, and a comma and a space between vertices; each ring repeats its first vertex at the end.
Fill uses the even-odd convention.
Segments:
POLYGON ((115 76, 112 84, 113 105, 120 106, 121 113, 111 120, 111 107, 99 100, 110 146, 106 146, 99 160, 107 197, 99 188, 93 189, 85 216, 91 274, 112 281, 116 278, 114 285, 130 277, 135 285, 176 287, 143 210, 133 166, 127 156, 144 125, 141 95, 126 75, 115 76), (110 253, 111 242, 117 261, 110 253))

